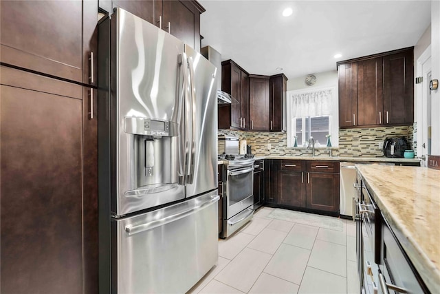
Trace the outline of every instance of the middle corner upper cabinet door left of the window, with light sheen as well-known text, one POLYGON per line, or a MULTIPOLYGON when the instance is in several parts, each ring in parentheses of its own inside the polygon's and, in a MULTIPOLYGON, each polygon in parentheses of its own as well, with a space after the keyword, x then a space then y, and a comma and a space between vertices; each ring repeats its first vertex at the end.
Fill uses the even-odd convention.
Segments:
POLYGON ((269 130, 269 78, 250 78, 249 120, 254 131, 269 130))

